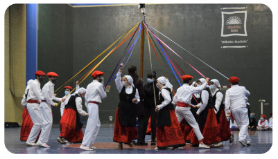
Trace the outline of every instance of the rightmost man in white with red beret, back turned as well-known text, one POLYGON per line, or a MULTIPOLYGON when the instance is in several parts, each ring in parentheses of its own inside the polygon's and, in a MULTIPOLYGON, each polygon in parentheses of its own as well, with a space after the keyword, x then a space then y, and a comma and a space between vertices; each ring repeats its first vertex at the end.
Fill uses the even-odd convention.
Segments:
POLYGON ((238 125, 239 135, 238 142, 243 146, 251 145, 251 139, 248 134, 248 109, 246 107, 245 97, 250 95, 250 92, 244 86, 238 86, 238 77, 230 77, 229 82, 232 87, 226 91, 225 95, 225 112, 230 113, 236 120, 238 125))

